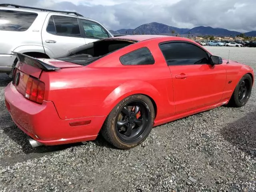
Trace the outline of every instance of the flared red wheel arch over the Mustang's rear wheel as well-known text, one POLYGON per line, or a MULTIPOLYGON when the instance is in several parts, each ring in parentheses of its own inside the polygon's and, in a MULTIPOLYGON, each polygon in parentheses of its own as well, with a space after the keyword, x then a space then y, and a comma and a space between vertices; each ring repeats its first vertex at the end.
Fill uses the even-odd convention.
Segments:
POLYGON ((108 115, 111 110, 124 98, 134 95, 144 94, 154 100, 156 106, 160 104, 160 93, 158 90, 149 84, 148 82, 134 80, 124 84, 120 84, 115 88, 104 100, 102 108, 104 109, 105 115, 108 115))

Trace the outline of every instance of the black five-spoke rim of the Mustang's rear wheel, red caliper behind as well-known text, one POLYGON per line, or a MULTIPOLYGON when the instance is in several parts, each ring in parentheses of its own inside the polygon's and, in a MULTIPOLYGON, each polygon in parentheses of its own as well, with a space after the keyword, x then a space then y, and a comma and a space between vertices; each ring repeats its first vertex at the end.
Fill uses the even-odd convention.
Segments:
POLYGON ((146 130, 149 114, 148 106, 142 101, 134 101, 124 106, 116 120, 118 137, 124 142, 136 141, 146 130))

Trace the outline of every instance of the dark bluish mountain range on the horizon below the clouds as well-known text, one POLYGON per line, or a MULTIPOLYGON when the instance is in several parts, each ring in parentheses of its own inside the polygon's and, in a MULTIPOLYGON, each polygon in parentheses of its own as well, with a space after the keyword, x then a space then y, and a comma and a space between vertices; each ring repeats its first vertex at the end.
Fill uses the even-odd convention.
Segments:
MULTIPOLYGON (((189 28, 177 28, 174 26, 168 26, 166 24, 152 22, 148 24, 143 24, 138 26, 135 29, 120 29, 117 31, 111 30, 112 34, 115 35, 125 35, 125 34, 158 34, 158 35, 172 35, 172 30, 179 34, 180 36, 188 36, 189 32, 191 35, 194 36, 204 36, 204 35, 212 35, 212 36, 237 36, 240 32, 237 31, 230 31, 223 28, 212 28, 210 26, 198 26, 192 29, 189 28), (127 33, 126 33, 127 32, 127 33)), ((256 31, 248 32, 254 35, 247 35, 246 36, 256 36, 256 31)))

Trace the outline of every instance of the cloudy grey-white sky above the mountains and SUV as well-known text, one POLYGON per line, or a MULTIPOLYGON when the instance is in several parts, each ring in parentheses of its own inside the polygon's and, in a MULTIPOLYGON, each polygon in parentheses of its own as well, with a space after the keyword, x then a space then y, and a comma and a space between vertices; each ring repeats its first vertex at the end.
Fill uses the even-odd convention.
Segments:
POLYGON ((2 3, 76 11, 109 30, 134 29, 150 22, 179 28, 256 30, 256 0, 0 0, 2 3))

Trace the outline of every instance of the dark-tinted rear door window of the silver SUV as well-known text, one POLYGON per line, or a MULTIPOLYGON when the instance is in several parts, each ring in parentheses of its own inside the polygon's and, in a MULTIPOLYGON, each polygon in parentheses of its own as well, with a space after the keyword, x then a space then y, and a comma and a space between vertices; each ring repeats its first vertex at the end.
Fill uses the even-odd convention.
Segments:
POLYGON ((73 17, 52 16, 46 31, 60 36, 81 36, 78 19, 73 17))

